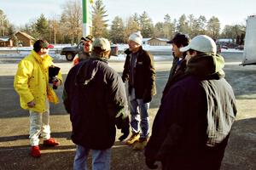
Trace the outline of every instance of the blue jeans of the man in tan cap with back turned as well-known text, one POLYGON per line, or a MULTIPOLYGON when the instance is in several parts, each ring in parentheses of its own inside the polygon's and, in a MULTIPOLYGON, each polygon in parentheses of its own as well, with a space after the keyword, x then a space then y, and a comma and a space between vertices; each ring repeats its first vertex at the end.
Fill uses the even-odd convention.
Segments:
MULTIPOLYGON (((77 145, 76 155, 73 162, 74 170, 87 170, 87 158, 90 149, 77 145)), ((109 170, 110 169, 111 148, 107 150, 92 150, 92 169, 109 170)))

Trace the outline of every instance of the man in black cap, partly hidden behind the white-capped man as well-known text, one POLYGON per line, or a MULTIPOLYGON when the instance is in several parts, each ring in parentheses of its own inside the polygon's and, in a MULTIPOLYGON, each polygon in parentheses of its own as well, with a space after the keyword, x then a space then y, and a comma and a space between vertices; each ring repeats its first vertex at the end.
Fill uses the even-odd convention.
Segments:
POLYGON ((177 33, 172 40, 168 41, 167 43, 172 44, 173 61, 170 75, 163 91, 162 99, 165 97, 165 94, 168 92, 172 84, 177 82, 177 80, 184 75, 186 69, 186 53, 181 52, 180 48, 183 48, 189 44, 189 36, 186 34, 177 33))

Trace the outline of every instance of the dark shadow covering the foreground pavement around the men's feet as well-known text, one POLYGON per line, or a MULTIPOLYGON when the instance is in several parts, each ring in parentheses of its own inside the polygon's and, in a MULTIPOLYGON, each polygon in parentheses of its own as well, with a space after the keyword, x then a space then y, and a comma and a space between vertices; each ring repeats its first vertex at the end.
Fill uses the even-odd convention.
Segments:
MULTIPOLYGON (((256 118, 238 120, 234 123, 221 170, 255 169, 255 129, 256 118)), ((67 141, 69 134, 69 132, 52 133, 64 145, 53 148, 41 147, 42 156, 40 158, 29 156, 30 146, 28 144, 1 147, 0 169, 73 169, 75 145, 71 141, 67 141)), ((25 139, 26 137, 26 135, 20 135, 16 138, 25 139)), ((0 142, 11 140, 15 142, 16 138, 15 136, 7 139, 3 137, 0 142)), ((90 167, 91 156, 88 162, 90 167)), ((131 146, 116 142, 112 149, 111 169, 146 170, 148 168, 144 163, 143 151, 134 151, 131 146)))

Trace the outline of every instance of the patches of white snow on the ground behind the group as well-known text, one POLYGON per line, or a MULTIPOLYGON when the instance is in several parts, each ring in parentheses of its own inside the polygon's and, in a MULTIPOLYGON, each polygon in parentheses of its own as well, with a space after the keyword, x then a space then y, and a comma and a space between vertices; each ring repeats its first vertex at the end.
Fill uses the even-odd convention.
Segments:
MULTIPOLYGON (((71 44, 56 44, 55 48, 51 48, 49 50, 49 55, 53 57, 54 59, 66 59, 64 55, 61 55, 61 49, 64 47, 70 47, 71 44)), ((126 48, 128 48, 127 44, 118 44, 119 51, 124 51, 126 48)), ((171 51, 171 46, 150 46, 150 45, 143 45, 143 49, 148 51, 171 51)), ((30 51, 32 50, 32 47, 22 47, 22 48, 0 48, 0 57, 1 56, 8 56, 8 57, 24 57, 27 54, 30 54, 30 51), (4 51, 4 54, 1 53, 1 51, 4 51)), ((238 49, 221 49, 222 53, 243 53, 242 50, 238 49)), ((162 60, 162 59, 171 59, 170 55, 154 55, 155 60, 162 60)), ((125 60, 125 54, 120 53, 119 56, 112 56, 110 60, 117 60, 117 61, 123 61, 125 60)))

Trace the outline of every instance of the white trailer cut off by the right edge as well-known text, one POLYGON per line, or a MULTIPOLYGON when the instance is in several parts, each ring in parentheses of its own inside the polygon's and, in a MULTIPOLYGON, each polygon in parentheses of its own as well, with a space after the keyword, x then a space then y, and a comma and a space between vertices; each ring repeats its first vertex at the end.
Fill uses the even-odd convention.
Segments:
POLYGON ((256 65, 256 15, 248 16, 241 65, 256 65))

